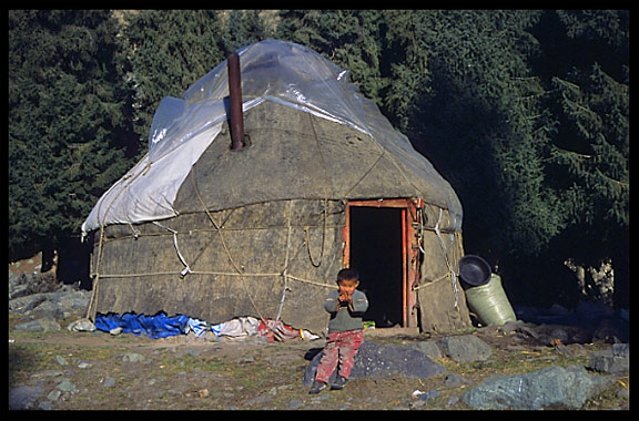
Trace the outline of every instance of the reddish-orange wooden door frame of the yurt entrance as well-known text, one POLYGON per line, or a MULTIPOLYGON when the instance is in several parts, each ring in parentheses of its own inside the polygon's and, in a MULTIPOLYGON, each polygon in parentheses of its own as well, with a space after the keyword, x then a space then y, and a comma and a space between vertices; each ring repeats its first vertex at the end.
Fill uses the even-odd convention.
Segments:
POLYGON ((422 199, 395 198, 353 201, 346 206, 346 225, 344 227, 344 266, 351 265, 351 224, 353 207, 392 208, 400 212, 402 225, 402 327, 418 327, 416 298, 413 284, 419 276, 419 245, 416 236, 417 208, 422 207, 422 199))

